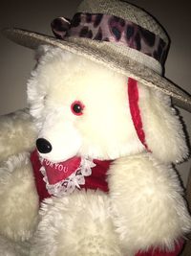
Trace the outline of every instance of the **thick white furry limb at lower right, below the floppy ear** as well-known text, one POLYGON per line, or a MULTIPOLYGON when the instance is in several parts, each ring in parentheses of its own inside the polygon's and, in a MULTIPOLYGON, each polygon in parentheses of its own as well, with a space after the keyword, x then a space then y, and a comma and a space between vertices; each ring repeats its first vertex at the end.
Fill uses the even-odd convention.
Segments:
POLYGON ((117 159, 109 171, 113 221, 121 245, 173 249, 191 228, 178 176, 150 153, 117 159))

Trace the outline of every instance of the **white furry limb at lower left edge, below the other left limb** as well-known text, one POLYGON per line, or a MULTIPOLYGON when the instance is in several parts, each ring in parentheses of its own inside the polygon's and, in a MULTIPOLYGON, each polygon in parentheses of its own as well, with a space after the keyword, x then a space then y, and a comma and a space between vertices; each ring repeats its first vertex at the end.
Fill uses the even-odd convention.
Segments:
POLYGON ((38 219, 38 197, 28 153, 11 156, 0 168, 0 234, 29 240, 38 219))

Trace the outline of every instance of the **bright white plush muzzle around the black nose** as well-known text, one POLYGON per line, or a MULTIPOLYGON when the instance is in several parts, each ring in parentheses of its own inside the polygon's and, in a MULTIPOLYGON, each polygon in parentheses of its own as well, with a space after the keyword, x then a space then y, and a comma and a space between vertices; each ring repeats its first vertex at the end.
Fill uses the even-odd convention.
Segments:
POLYGON ((46 114, 46 119, 42 129, 39 132, 39 138, 46 138, 50 141, 53 151, 50 153, 40 153, 43 158, 52 162, 67 160, 76 155, 81 146, 81 136, 74 123, 67 118, 64 107, 61 109, 50 109, 46 114))

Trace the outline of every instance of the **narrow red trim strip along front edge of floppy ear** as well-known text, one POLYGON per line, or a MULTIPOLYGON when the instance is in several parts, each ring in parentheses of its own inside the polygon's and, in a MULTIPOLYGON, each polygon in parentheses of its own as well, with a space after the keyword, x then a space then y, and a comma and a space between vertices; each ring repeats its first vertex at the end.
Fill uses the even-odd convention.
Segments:
POLYGON ((130 112, 134 123, 134 127, 136 128, 138 134, 138 139, 148 151, 148 146, 145 142, 145 134, 142 128, 142 121, 138 107, 138 81, 132 78, 128 79, 128 97, 130 112))

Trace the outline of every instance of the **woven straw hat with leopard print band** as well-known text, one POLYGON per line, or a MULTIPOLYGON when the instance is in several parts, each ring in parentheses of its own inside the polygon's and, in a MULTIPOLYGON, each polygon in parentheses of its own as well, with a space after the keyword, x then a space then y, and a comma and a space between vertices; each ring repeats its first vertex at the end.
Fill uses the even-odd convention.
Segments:
POLYGON ((54 36, 4 29, 14 42, 49 44, 90 58, 172 97, 191 112, 191 96, 163 76, 169 38, 156 19, 125 1, 83 0, 72 20, 53 20, 54 36))

